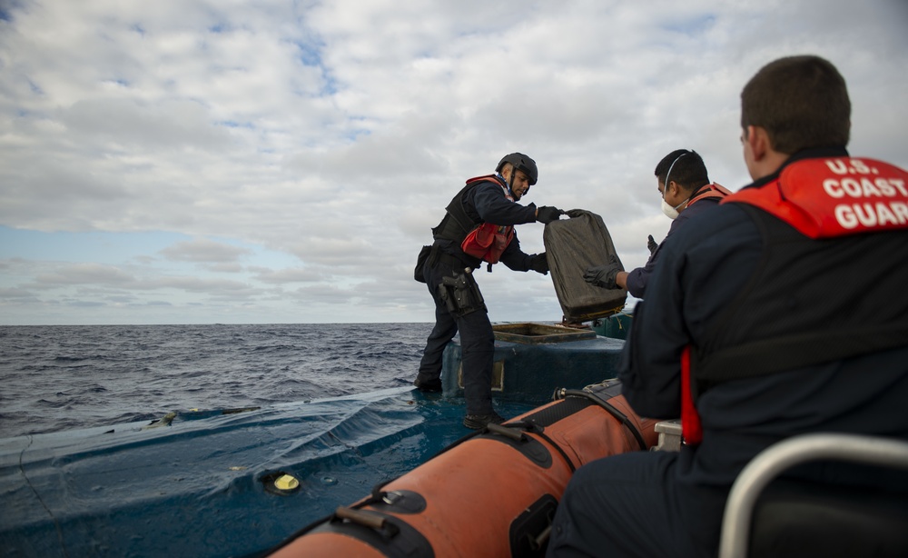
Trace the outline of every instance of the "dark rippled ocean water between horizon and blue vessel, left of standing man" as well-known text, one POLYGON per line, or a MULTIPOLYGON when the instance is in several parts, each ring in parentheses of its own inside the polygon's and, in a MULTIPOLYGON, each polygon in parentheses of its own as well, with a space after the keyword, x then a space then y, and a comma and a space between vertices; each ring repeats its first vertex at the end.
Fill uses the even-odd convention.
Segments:
POLYGON ((0 437, 410 384, 431 328, 0 326, 0 437))

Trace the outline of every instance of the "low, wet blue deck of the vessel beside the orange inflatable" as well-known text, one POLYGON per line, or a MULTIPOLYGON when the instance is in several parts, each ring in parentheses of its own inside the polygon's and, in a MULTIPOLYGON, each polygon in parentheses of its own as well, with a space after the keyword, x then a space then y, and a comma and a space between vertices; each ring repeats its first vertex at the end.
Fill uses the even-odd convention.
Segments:
MULTIPOLYGON (((509 404, 518 414, 530 405, 509 404)), ((241 414, 178 415, 0 445, 0 547, 23 556, 249 556, 467 431, 409 388, 241 414), (300 488, 262 482, 290 473, 300 488)))

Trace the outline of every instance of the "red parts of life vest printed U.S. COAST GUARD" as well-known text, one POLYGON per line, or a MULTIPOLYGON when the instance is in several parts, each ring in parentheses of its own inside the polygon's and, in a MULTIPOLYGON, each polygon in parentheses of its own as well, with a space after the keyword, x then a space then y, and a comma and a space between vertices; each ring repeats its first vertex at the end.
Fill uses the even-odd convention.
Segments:
MULTIPOLYGON (((788 164, 778 178, 746 188, 722 204, 753 205, 811 239, 908 229, 908 173, 873 159, 833 157, 788 164)), ((685 442, 700 443, 691 347, 681 356, 681 427, 685 442)))

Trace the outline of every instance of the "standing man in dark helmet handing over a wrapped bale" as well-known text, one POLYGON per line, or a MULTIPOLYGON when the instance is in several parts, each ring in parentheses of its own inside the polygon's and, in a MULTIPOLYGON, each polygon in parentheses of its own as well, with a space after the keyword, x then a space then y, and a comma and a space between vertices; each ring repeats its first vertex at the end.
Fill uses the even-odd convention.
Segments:
POLYGON ((517 202, 536 184, 536 162, 525 154, 505 155, 496 174, 470 178, 448 204, 447 214, 432 229, 435 239, 422 273, 435 300, 435 327, 429 334, 413 382, 423 392, 441 391, 441 357, 460 332, 464 396, 464 426, 473 429, 501 423, 492 407, 492 356, 495 337, 479 285, 471 271, 483 261, 503 262, 514 271, 548 273, 546 253, 520 250, 515 224, 550 223, 563 214, 556 207, 517 202))

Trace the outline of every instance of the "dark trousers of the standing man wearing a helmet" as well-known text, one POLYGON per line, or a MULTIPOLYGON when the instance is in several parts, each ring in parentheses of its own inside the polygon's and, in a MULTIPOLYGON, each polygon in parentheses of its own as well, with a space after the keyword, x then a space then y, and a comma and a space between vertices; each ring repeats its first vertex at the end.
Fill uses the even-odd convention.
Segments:
POLYGON ((495 352, 495 334, 485 307, 469 314, 452 314, 448 304, 439 294, 441 280, 463 273, 463 266, 445 258, 424 267, 429 293, 435 300, 435 327, 426 341, 426 348, 419 362, 420 382, 439 378, 441 359, 445 346, 460 332, 461 365, 463 368, 464 397, 467 414, 490 414, 492 408, 492 358, 495 352))

